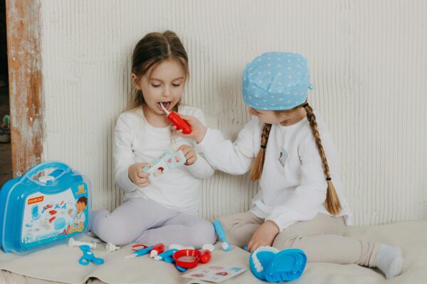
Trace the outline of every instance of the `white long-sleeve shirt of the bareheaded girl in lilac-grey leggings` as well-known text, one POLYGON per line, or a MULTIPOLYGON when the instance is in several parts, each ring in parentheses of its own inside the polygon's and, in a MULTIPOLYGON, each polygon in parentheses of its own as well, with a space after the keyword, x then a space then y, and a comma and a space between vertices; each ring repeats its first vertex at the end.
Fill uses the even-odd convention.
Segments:
MULTIPOLYGON (((179 113, 195 116, 205 124, 201 109, 180 106, 179 113)), ((203 155, 197 154, 193 165, 181 165, 153 179, 147 187, 138 187, 129 178, 128 169, 135 163, 150 163, 166 151, 181 145, 194 146, 191 139, 172 136, 170 127, 154 127, 144 118, 142 107, 126 111, 117 119, 113 158, 115 182, 125 192, 124 200, 143 197, 189 214, 197 214, 201 179, 209 178, 214 169, 203 155)))

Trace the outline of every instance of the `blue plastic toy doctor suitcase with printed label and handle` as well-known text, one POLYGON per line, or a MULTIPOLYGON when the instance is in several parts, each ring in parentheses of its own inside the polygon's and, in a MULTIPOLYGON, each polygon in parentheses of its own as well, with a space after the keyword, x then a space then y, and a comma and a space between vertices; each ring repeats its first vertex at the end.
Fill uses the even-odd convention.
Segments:
POLYGON ((1 187, 0 246, 29 253, 75 238, 90 228, 91 206, 83 175, 61 162, 35 165, 1 187))

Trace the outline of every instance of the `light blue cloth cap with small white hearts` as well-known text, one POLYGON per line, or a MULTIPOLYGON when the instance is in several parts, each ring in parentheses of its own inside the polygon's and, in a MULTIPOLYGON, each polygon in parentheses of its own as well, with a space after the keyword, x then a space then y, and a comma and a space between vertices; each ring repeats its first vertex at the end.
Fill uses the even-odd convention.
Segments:
POLYGON ((243 100, 253 109, 292 109, 305 102, 308 89, 307 59, 297 53, 263 53, 243 71, 243 100))

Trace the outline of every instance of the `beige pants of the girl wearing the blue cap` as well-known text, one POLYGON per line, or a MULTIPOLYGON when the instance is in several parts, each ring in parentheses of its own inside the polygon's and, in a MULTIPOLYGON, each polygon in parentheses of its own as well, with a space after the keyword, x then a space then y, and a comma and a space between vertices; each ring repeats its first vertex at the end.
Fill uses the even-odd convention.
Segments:
MULTIPOLYGON (((246 246, 253 233, 263 224, 264 219, 252 212, 244 212, 219 218, 226 233, 226 239, 236 246, 246 246)), ((276 249, 302 249, 307 261, 349 264, 375 267, 379 244, 360 241, 344 236, 344 217, 317 214, 315 219, 301 221, 284 229, 275 237, 276 249)))

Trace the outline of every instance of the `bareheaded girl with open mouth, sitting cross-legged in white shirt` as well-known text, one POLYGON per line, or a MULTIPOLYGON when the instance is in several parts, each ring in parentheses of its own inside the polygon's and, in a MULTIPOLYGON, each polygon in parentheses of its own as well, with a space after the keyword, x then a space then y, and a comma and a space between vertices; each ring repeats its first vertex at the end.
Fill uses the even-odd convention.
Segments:
POLYGON ((200 109, 180 104, 188 76, 186 50, 174 32, 148 33, 135 46, 132 99, 117 119, 112 149, 123 202, 91 219, 91 231, 103 241, 196 248, 214 243, 214 226, 197 216, 201 179, 214 169, 194 151, 191 139, 174 137, 160 105, 204 121, 200 109), (182 151, 186 163, 167 174, 161 168, 163 174, 149 180, 142 168, 167 151, 182 151))

